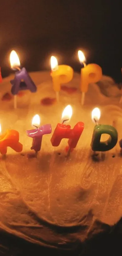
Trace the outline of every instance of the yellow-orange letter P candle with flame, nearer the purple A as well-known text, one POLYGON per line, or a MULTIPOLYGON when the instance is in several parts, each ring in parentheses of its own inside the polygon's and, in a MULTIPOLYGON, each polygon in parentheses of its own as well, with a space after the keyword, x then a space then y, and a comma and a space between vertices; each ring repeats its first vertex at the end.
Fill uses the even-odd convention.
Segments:
POLYGON ((56 92, 56 99, 59 101, 59 91, 61 84, 70 82, 73 78, 73 69, 68 65, 59 65, 54 56, 51 56, 51 77, 53 80, 53 89, 56 92))

